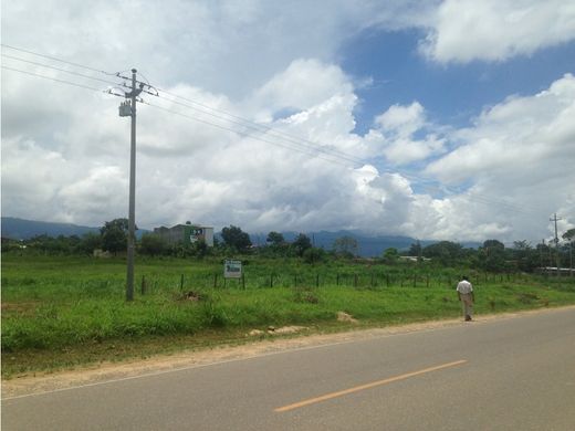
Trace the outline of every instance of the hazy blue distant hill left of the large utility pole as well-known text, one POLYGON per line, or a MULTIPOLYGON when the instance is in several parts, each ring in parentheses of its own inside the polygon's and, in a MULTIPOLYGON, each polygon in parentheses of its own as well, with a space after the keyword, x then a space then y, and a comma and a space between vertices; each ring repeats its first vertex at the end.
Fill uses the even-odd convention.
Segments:
POLYGON ((72 223, 52 223, 2 217, 2 238, 10 238, 12 240, 29 240, 30 238, 43 234, 49 236, 82 236, 88 232, 98 233, 100 229, 72 223))

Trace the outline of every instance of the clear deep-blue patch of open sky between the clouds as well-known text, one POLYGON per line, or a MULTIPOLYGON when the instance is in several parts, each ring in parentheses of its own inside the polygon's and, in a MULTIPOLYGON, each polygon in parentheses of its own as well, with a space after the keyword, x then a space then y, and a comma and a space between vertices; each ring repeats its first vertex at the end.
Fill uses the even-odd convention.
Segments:
POLYGON ((430 119, 456 127, 469 126, 483 107, 511 95, 539 93, 548 83, 575 70, 575 44, 564 43, 501 62, 437 64, 420 55, 421 30, 368 29, 342 46, 344 71, 372 85, 358 87, 357 133, 393 104, 419 101, 430 119))

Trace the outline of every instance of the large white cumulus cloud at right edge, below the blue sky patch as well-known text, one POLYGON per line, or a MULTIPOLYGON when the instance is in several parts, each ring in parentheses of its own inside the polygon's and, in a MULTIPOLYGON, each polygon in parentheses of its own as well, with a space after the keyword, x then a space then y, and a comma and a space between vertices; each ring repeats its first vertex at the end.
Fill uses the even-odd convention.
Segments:
POLYGON ((458 210, 473 209, 469 220, 491 220, 485 233, 548 234, 541 227, 557 211, 557 202, 566 219, 575 213, 574 116, 575 77, 567 74, 547 90, 503 101, 472 127, 454 130, 451 138, 459 146, 430 162, 425 175, 451 185, 462 203, 458 210))

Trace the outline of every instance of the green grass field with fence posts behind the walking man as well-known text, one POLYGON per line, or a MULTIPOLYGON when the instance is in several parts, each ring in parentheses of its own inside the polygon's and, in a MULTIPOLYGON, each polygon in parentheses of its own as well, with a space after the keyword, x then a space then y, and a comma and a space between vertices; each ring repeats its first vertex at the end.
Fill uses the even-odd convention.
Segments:
MULTIPOLYGON (((2 255, 2 376, 143 357, 249 339, 250 329, 357 326, 457 317, 460 271, 366 262, 244 260, 244 278, 222 278, 219 260, 138 259, 135 301, 125 261, 2 255)), ((573 278, 469 272, 475 313, 575 303, 573 278)))

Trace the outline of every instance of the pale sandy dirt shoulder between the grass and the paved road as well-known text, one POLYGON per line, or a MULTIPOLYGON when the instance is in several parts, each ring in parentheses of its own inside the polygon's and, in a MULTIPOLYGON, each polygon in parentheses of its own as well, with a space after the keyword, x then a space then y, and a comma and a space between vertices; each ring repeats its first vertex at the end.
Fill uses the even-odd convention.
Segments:
MULTIPOLYGON (((550 313, 554 309, 575 309, 575 306, 544 308, 516 313, 482 315, 472 324, 481 324, 494 319, 513 318, 526 314, 550 313)), ((2 399, 22 397, 42 392, 65 390, 70 388, 100 385, 113 380, 137 378, 145 375, 169 372, 179 369, 208 366, 210 364, 247 359, 262 355, 273 355, 286 350, 312 348, 338 343, 368 339, 375 337, 405 334, 418 330, 432 330, 450 326, 469 325, 461 319, 433 320, 402 326, 381 328, 353 329, 335 334, 301 335, 291 338, 265 338, 249 341, 240 346, 220 346, 203 350, 186 350, 168 356, 155 356, 148 359, 124 362, 103 362, 96 366, 76 368, 74 370, 34 376, 17 377, 2 381, 2 399)))

